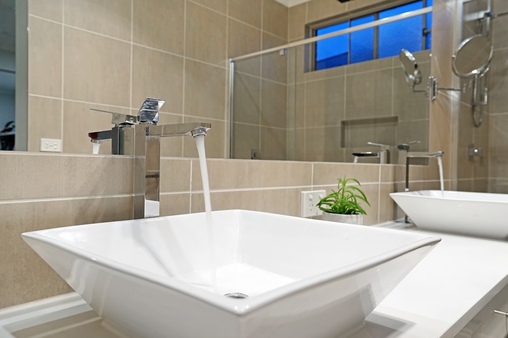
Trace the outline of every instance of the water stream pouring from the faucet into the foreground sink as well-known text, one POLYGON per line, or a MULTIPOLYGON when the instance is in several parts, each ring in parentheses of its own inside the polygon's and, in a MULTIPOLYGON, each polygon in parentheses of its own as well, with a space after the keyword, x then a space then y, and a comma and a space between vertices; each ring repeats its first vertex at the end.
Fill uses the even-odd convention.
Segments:
POLYGON ((201 169, 201 180, 203 182, 203 196, 205 199, 206 229, 208 233, 208 255, 210 259, 210 280, 211 286, 217 290, 217 276, 215 266, 215 252, 213 240, 212 206, 210 202, 210 184, 208 181, 208 169, 206 167, 205 135, 196 135, 196 146, 198 148, 199 167, 201 169))

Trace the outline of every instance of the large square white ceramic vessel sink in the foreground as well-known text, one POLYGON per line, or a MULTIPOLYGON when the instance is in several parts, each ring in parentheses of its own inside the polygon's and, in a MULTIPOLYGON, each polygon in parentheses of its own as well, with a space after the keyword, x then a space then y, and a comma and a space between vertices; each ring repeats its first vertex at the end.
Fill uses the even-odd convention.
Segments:
POLYGON ((360 326, 440 241, 244 210, 216 211, 212 219, 213 269, 204 213, 23 239, 105 325, 153 338, 335 337, 360 326))

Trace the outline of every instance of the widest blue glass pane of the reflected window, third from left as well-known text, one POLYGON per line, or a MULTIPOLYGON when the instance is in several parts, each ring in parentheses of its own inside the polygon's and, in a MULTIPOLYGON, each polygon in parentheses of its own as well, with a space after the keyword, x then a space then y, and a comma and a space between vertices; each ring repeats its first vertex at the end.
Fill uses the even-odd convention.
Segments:
MULTIPOLYGON (((423 8, 423 1, 398 6, 379 12, 379 19, 423 8)), ((398 55, 401 48, 410 52, 422 50, 422 16, 416 16, 379 26, 378 57, 385 58, 398 55)))

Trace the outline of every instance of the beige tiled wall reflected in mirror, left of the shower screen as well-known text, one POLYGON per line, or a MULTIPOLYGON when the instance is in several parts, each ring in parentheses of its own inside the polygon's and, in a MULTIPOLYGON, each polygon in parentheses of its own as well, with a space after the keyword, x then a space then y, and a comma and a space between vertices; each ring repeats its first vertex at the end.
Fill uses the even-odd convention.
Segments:
MULTIPOLYGON (((227 59, 287 42, 287 12, 274 0, 30 0, 28 150, 57 138, 89 154, 87 133, 111 128, 89 108, 136 115, 156 97, 160 123, 211 122, 207 155, 227 157, 227 59)), ((192 139, 162 152, 197 156, 192 139)))

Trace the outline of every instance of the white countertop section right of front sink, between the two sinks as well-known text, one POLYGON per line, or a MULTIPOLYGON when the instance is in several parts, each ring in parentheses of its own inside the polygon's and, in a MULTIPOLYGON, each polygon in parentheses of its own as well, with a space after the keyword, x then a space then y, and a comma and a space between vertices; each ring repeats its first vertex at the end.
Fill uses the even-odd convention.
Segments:
POLYGON ((425 233, 442 240, 353 337, 454 337, 508 283, 508 242, 425 233))

